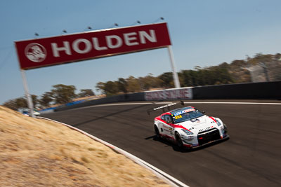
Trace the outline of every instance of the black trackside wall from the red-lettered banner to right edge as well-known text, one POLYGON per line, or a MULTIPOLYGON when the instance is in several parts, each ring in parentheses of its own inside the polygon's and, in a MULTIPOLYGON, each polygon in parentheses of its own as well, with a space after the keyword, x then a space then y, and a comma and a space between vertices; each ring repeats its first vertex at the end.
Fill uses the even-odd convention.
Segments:
POLYGON ((193 99, 281 99, 281 81, 209 85, 192 92, 193 99))

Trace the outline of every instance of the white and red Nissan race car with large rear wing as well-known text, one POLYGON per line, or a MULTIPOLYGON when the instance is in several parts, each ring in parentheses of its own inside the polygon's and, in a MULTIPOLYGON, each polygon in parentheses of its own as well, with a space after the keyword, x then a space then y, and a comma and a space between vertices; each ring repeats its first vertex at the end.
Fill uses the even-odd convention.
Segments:
MULTIPOLYGON (((159 106, 155 109, 170 108, 177 103, 159 106)), ((183 102, 181 102, 183 104, 183 102)), ((193 106, 174 109, 155 118, 154 130, 157 138, 174 141, 180 148, 196 148, 214 141, 228 139, 227 127, 220 118, 207 116, 193 106)))

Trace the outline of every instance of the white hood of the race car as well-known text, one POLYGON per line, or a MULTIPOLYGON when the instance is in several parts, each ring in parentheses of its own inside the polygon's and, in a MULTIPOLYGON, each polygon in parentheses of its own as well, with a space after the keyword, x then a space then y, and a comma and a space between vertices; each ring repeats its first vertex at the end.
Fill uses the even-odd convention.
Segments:
POLYGON ((190 131, 197 130, 199 132, 202 132, 204 130, 214 128, 216 126, 216 122, 209 116, 204 115, 199 118, 194 118, 192 120, 187 120, 182 123, 178 123, 178 125, 181 125, 190 131))

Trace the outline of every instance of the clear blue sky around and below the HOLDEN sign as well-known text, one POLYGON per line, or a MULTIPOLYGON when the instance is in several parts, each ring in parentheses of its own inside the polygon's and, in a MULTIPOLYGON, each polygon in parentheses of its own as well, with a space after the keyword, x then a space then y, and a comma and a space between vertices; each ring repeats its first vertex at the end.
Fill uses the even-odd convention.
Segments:
MULTIPOLYGON (((155 22, 168 22, 176 68, 193 69, 280 53, 279 0, 1 0, 0 104, 22 97, 24 89, 13 41, 155 22)), ((34 95, 63 83, 77 90, 93 89, 99 81, 129 76, 158 76, 171 71, 166 48, 26 71, 34 95)))

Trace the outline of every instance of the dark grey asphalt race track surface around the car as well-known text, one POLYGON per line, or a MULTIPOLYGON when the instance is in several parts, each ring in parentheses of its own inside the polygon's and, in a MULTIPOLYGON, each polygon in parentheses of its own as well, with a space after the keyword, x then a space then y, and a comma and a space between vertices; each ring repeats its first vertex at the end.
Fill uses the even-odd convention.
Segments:
POLYGON ((230 139, 180 151, 169 141, 155 139, 153 118, 160 112, 146 113, 164 104, 127 104, 90 106, 44 117, 93 134, 188 186, 281 186, 281 105, 185 104, 221 118, 228 125, 230 139))

